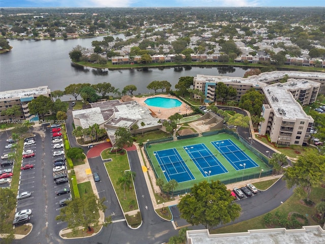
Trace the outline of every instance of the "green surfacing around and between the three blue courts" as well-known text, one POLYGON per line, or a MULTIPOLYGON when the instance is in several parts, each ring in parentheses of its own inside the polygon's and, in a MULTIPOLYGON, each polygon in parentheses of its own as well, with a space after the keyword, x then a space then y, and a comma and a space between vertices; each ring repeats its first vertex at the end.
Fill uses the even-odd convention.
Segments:
MULTIPOLYGON (((183 146, 187 145, 193 145, 193 144, 200 144, 204 143, 208 149, 213 153, 214 155, 217 155, 217 159, 221 162, 221 164, 229 171, 228 173, 223 173, 219 175, 211 175, 209 177, 210 180, 226 180, 231 178, 236 178, 248 174, 259 174, 261 172, 261 169, 268 170, 270 169, 265 163, 263 163, 260 159, 258 159, 250 150, 248 150, 239 140, 237 140, 235 137, 233 137, 230 134, 222 133, 217 134, 213 136, 204 136, 204 137, 194 137, 190 139, 184 139, 184 140, 177 140, 177 141, 169 141, 165 143, 157 143, 157 144, 151 144, 150 147, 147 147, 148 155, 153 155, 154 151, 164 150, 164 149, 170 149, 170 148, 176 148, 186 165, 188 166, 189 170, 195 177, 194 180, 190 181, 184 181, 179 182, 178 187, 176 190, 180 189, 186 189, 191 188, 194 184, 197 184, 198 182, 202 180, 207 180, 206 177, 204 177, 199 170, 199 168, 194 164, 193 161, 191 161, 190 157, 187 155, 185 149, 183 146), (260 167, 255 168, 248 168, 243 170, 235 170, 234 167, 219 153, 217 154, 217 149, 211 144, 211 141, 216 140, 224 140, 224 139, 231 139, 234 143, 236 143, 241 149, 245 149, 245 153, 253 160, 255 161, 260 167)), ((157 172, 158 177, 163 176, 163 172, 158 164, 158 161, 155 157, 152 157, 153 160, 153 166, 155 171, 157 172)), ((257 176, 258 177, 258 176, 257 176)), ((165 177, 162 177, 166 180, 165 177)), ((234 182, 234 181, 233 181, 234 182)))

